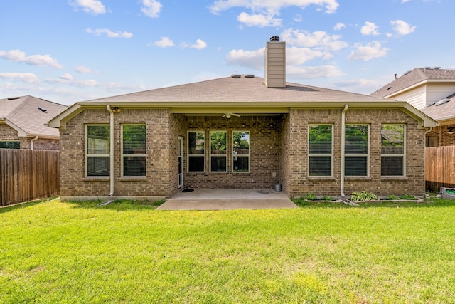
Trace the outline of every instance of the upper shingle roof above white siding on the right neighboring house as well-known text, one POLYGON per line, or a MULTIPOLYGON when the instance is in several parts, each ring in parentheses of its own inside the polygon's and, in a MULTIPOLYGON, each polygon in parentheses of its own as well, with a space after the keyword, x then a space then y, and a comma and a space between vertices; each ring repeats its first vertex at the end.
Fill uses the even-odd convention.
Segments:
POLYGON ((406 72, 404 75, 371 93, 370 96, 378 98, 391 97, 391 95, 395 95, 395 93, 399 93, 414 85, 430 81, 455 82, 455 70, 442 68, 414 68, 414 70, 406 72))

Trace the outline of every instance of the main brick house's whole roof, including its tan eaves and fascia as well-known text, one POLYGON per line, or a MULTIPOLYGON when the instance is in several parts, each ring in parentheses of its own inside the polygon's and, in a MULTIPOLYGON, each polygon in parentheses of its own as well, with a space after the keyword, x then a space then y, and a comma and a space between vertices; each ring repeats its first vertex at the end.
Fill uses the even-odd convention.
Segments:
POLYGON ((138 93, 100 98, 75 103, 50 120, 50 127, 65 127, 65 122, 85 108, 168 108, 186 115, 213 115, 236 112, 249 115, 287 113, 291 108, 343 108, 344 105, 364 108, 407 108, 414 117, 432 121, 405 102, 348 93, 311 85, 287 83, 286 88, 267 88, 264 78, 240 77, 176 85, 138 93))

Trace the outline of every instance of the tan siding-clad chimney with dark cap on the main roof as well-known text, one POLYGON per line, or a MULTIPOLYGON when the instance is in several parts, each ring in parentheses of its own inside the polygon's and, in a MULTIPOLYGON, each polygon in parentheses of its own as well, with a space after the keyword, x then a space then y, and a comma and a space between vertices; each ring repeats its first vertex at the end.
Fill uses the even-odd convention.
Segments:
POLYGON ((265 85, 286 88, 286 43, 272 36, 265 46, 265 85))

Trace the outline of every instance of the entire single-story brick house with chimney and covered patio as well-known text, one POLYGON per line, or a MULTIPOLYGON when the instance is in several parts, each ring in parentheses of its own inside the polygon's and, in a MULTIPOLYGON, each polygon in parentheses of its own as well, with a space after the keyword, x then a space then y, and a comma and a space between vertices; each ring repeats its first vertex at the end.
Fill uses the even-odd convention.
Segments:
POLYGON ((75 103, 49 122, 60 129, 61 199, 279 183, 289 197, 424 194, 434 120, 405 102, 287 83, 285 67, 285 43, 271 41, 265 78, 75 103))

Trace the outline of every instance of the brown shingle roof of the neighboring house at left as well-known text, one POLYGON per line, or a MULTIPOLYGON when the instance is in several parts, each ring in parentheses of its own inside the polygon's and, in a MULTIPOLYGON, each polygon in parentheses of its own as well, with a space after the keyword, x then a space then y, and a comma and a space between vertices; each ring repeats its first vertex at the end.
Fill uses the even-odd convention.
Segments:
POLYGON ((68 106, 53 103, 33 96, 0 99, 0 122, 18 131, 18 136, 60 137, 58 130, 46 127, 52 117, 68 106), (39 108, 43 109, 40 110, 39 108), (45 110, 45 112, 44 112, 45 110))

